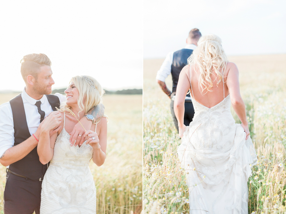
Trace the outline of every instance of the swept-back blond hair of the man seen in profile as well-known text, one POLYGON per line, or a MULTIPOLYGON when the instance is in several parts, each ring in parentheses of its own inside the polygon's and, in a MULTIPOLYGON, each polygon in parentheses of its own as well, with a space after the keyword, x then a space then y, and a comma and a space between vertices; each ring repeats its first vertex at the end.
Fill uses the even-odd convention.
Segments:
POLYGON ((42 66, 51 66, 51 60, 43 53, 31 53, 23 57, 21 63, 21 75, 27 84, 27 76, 32 75, 36 80, 42 66))

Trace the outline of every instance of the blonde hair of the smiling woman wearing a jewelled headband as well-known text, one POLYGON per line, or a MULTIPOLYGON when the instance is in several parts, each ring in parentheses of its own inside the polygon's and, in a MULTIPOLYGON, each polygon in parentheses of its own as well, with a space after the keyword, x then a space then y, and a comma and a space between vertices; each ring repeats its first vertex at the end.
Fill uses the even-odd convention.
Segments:
MULTIPOLYGON (((84 114, 86 114, 92 107, 102 103, 102 96, 104 94, 104 90, 96 79, 91 76, 86 77, 94 83, 95 89, 82 76, 72 77, 70 81, 74 82, 78 89, 80 94, 78 97, 78 106, 80 107, 80 112, 84 111, 84 114)), ((62 102, 59 106, 59 111, 64 112, 67 108, 71 110, 71 107, 67 105, 66 102, 62 102)))

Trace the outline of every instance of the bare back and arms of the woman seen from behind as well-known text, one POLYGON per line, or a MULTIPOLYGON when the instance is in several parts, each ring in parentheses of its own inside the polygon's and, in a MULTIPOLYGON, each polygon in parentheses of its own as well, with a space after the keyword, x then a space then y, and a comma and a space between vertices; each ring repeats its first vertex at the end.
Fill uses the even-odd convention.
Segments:
MULTIPOLYGON (((194 94, 194 100, 196 100, 198 103, 211 108, 217 104, 219 104, 226 96, 230 96, 231 104, 233 106, 233 109, 235 110, 235 113, 239 117, 240 121, 242 122, 242 126, 245 129, 245 132, 247 133, 247 138, 249 135, 248 130, 248 122, 246 119, 245 114, 245 105, 241 98, 240 90, 239 90, 239 72, 237 69, 237 66, 232 63, 228 62, 226 66, 226 71, 224 74, 224 82, 225 87, 223 86, 223 81, 219 83, 218 86, 216 75, 212 75, 213 80, 213 87, 212 91, 206 92, 206 94, 201 93, 200 87, 199 87, 199 77, 200 73, 196 72, 194 70, 194 66, 187 65, 185 66, 179 77, 177 90, 176 90, 176 98, 174 101, 174 110, 176 117, 178 119, 178 125, 179 125, 179 133, 182 135, 180 128, 183 126, 183 117, 184 117, 184 99, 186 96, 186 93, 190 89, 190 84, 192 84, 192 91, 194 94), (191 78, 191 79, 190 79, 191 78), (225 88, 225 91, 223 90, 223 87, 225 88), (224 97, 225 92, 225 97, 224 97)), ((192 92, 191 92, 192 96, 192 92)), ((184 128, 183 128, 184 129, 184 128)))

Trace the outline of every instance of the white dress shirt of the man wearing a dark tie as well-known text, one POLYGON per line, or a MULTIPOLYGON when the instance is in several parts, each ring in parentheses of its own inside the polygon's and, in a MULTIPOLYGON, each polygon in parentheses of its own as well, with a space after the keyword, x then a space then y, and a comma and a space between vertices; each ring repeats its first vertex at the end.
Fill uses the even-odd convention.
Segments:
MULTIPOLYGON (((60 102, 66 101, 66 97, 62 94, 55 93, 60 102)), ((40 114, 35 105, 37 101, 41 101, 41 110, 45 112, 45 117, 52 111, 52 107, 45 95, 40 100, 31 98, 25 88, 21 94, 23 99, 27 125, 30 134, 34 134, 40 124, 40 114)), ((0 154, 2 155, 7 149, 14 146, 14 122, 10 102, 3 103, 0 106, 0 154)))

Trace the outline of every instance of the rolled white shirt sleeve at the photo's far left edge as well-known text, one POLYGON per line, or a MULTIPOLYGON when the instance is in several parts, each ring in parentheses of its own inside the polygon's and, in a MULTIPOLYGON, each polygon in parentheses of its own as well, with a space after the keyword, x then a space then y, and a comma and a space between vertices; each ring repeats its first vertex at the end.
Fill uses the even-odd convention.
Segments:
POLYGON ((11 105, 6 102, 0 106, 0 154, 14 146, 14 122, 11 105))

